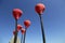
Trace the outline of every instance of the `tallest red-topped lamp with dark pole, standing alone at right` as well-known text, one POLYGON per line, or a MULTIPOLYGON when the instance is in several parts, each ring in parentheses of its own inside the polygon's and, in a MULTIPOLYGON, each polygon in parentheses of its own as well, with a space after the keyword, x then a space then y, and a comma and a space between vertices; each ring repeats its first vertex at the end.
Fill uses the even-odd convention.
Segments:
POLYGON ((41 14, 44 12, 44 10, 46 10, 46 6, 42 3, 38 3, 35 6, 35 11, 39 14, 39 17, 40 17, 40 24, 41 24, 41 32, 42 32, 42 41, 43 41, 43 43, 46 43, 46 35, 44 35, 43 23, 42 23, 41 14))

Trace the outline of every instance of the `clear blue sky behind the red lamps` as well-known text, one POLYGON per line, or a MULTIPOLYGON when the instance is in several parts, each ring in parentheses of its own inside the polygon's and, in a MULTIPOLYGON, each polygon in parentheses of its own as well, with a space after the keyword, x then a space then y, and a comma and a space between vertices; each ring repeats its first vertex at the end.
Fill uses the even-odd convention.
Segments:
POLYGON ((47 43, 65 43, 65 0, 0 0, 0 43, 9 43, 13 37, 15 20, 12 10, 16 8, 23 11, 18 24, 24 26, 25 19, 31 22, 26 43, 42 43, 39 16, 35 12, 39 2, 46 5, 42 18, 47 43))

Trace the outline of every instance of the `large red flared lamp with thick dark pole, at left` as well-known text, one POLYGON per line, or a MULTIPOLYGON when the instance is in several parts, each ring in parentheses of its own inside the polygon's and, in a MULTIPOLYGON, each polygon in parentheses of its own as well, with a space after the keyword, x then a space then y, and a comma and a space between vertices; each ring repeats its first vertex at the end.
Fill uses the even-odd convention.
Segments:
POLYGON ((22 16, 23 12, 20 9, 13 9, 13 16, 15 18, 15 35, 14 35, 14 43, 17 40, 17 19, 22 16))

